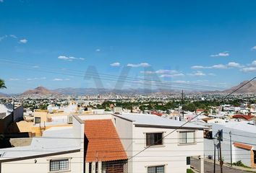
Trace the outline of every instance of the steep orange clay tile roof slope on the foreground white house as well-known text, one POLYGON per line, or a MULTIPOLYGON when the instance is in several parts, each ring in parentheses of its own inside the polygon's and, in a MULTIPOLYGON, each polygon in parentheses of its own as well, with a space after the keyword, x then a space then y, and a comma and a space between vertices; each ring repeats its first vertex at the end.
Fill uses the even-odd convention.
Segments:
POLYGON ((85 161, 114 161, 127 159, 111 120, 85 120, 88 148, 85 161))

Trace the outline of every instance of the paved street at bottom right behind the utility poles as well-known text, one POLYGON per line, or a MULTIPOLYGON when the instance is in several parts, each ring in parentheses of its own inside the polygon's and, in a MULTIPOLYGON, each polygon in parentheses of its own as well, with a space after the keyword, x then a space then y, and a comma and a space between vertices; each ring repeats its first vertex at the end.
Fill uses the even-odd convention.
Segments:
MULTIPOLYGON (((195 167, 195 169, 199 170, 200 169, 200 162, 198 159, 193 159, 191 158, 191 166, 195 167)), ((205 173, 207 172, 213 172, 213 164, 205 161, 205 173)), ((220 173, 221 172, 221 168, 220 165, 216 164, 216 173, 220 173)), ((230 167, 224 167, 223 166, 223 173, 245 173, 244 171, 238 170, 238 169, 233 169, 230 167)))

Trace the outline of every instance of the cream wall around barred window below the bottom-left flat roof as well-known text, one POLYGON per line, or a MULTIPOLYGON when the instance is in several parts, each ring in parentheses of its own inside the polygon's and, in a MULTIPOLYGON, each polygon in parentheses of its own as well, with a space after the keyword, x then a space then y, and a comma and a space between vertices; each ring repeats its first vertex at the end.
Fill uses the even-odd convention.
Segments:
POLYGON ((27 159, 1 163, 1 173, 46 173, 49 172, 51 159, 70 159, 70 172, 82 172, 80 152, 62 154, 57 156, 46 156, 42 158, 27 159), (35 163, 36 160, 36 163, 35 163))

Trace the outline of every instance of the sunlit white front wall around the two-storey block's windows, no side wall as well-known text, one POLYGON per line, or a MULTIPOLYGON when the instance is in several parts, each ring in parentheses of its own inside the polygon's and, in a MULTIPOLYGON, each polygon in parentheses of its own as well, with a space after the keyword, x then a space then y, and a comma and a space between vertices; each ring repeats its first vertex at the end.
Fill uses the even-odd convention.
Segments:
MULTIPOLYGON (((134 128, 133 155, 145 148, 145 133, 163 132, 163 136, 174 129, 134 128)), ((179 133, 174 131, 163 139, 163 146, 151 146, 132 160, 132 172, 147 172, 148 166, 166 165, 168 173, 184 173, 187 169, 187 156, 203 156, 203 132, 195 131, 196 144, 179 145, 179 133)))

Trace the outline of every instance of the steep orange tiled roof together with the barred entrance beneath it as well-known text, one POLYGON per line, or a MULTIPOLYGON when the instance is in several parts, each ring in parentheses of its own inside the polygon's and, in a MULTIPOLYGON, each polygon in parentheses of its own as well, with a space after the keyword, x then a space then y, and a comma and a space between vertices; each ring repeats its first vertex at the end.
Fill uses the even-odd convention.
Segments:
POLYGON ((111 119, 85 120, 88 172, 126 172, 127 154, 111 119))

